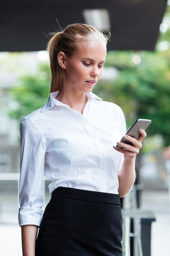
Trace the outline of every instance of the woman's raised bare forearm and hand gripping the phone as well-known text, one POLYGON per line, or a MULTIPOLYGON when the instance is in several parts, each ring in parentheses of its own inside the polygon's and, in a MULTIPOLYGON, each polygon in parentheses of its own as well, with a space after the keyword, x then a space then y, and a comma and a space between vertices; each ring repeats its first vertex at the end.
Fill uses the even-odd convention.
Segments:
POLYGON ((120 197, 124 197, 130 191, 130 189, 132 188, 135 182, 135 178, 136 178, 135 158, 142 147, 142 144, 141 144, 142 140, 146 137, 146 132, 144 130, 139 129, 139 132, 140 132, 140 136, 138 139, 135 139, 128 135, 124 136, 126 140, 132 142, 133 146, 119 141, 118 144, 122 146, 124 149, 117 149, 114 147, 115 150, 124 154, 124 162, 118 173, 118 179, 119 179, 118 192, 120 197))

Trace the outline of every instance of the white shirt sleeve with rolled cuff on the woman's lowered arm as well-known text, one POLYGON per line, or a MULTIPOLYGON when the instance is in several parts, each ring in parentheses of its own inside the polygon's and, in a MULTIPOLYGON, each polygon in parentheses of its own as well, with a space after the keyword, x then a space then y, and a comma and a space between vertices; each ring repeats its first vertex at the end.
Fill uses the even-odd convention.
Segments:
POLYGON ((19 224, 40 226, 43 215, 46 139, 37 123, 26 117, 20 124, 19 224))

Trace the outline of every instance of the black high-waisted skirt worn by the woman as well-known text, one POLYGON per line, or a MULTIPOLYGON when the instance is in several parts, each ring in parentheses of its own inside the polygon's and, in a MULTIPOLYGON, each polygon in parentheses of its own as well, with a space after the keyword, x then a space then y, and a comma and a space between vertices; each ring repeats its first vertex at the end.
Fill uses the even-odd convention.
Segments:
POLYGON ((119 195, 59 187, 47 205, 35 256, 122 256, 119 195))

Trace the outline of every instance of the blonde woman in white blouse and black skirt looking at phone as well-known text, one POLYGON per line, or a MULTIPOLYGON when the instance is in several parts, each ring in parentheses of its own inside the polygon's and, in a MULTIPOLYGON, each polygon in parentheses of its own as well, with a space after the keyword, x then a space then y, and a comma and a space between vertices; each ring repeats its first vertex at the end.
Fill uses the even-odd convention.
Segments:
POLYGON ((120 197, 135 182, 146 132, 126 137, 133 146, 118 141, 125 149, 115 148, 126 133, 123 112, 92 93, 107 41, 85 24, 68 25, 49 41, 49 101, 20 126, 23 256, 122 255, 120 197), (44 215, 43 175, 52 195, 44 215))

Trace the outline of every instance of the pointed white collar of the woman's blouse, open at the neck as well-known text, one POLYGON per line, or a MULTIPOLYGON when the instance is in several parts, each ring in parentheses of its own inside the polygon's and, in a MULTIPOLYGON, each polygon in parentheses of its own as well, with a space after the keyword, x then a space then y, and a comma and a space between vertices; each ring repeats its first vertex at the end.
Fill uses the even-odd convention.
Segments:
MULTIPOLYGON (((49 110, 49 109, 53 108, 53 106, 55 106, 55 105, 56 106, 67 106, 66 104, 63 104, 62 102, 57 101, 55 99, 55 97, 57 96, 58 93, 59 93, 59 91, 50 93, 49 101, 47 101, 46 104, 42 107, 41 112, 49 110)), ((97 95, 95 95, 93 92, 87 93, 86 97, 88 100, 97 99, 99 101, 102 101, 102 99, 99 98, 97 95)))

